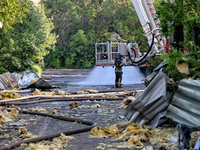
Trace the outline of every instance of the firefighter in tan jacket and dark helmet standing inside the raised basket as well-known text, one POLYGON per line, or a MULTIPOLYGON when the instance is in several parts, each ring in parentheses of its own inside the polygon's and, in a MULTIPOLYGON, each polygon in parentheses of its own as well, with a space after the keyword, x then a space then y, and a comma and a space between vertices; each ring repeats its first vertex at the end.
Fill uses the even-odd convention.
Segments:
POLYGON ((119 36, 119 30, 115 30, 114 33, 110 36, 109 41, 112 43, 112 59, 114 59, 118 52, 118 42, 126 42, 119 36), (114 52, 114 53, 113 53, 114 52))

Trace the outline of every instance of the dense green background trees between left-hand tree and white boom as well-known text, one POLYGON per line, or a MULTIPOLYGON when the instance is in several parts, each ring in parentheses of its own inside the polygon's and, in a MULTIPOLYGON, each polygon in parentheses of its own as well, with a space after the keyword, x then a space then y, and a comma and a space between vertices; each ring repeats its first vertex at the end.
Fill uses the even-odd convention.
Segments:
POLYGON ((45 57, 46 67, 91 68, 96 42, 108 41, 114 29, 123 39, 135 41, 147 50, 147 39, 130 0, 42 0, 47 16, 53 17, 58 42, 56 52, 45 57), (47 61, 47 62, 46 62, 47 61))

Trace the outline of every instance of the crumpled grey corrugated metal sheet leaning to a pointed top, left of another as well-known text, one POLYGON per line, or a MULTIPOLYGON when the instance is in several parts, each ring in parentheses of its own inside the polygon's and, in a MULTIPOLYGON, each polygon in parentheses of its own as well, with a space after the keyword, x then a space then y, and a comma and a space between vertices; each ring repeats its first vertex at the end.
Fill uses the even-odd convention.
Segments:
POLYGON ((166 93, 168 79, 159 71, 144 92, 125 109, 124 116, 131 122, 156 127, 169 105, 166 93))

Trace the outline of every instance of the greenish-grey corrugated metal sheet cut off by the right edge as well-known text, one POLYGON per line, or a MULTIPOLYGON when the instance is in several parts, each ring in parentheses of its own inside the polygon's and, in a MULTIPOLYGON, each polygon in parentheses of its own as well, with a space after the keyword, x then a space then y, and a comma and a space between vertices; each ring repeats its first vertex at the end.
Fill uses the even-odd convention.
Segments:
POLYGON ((191 127, 200 125, 200 80, 181 80, 166 117, 191 127))

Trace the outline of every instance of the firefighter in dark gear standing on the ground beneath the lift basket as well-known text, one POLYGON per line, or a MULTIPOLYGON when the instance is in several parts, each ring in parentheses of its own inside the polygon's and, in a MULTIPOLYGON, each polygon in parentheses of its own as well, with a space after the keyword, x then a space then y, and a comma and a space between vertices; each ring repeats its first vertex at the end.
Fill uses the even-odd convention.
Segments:
POLYGON ((115 58, 115 87, 116 88, 123 88, 121 85, 122 82, 122 60, 121 60, 121 54, 118 53, 117 57, 115 58))

